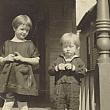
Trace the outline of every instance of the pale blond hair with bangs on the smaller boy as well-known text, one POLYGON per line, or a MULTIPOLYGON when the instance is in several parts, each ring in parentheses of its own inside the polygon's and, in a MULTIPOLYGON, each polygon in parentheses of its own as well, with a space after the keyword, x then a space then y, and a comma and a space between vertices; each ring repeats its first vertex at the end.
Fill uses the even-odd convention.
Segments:
POLYGON ((67 42, 73 42, 77 48, 80 47, 79 36, 77 34, 72 33, 72 32, 63 34, 63 36, 60 39, 61 45, 65 44, 67 42))

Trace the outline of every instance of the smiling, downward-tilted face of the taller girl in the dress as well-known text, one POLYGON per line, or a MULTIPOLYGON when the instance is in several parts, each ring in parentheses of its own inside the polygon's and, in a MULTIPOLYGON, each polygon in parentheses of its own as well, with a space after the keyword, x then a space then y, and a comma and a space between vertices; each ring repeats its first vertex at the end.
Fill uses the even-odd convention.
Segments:
POLYGON ((18 28, 14 29, 14 31, 15 31, 16 37, 19 40, 24 40, 30 31, 30 27, 22 24, 22 25, 19 25, 18 28))

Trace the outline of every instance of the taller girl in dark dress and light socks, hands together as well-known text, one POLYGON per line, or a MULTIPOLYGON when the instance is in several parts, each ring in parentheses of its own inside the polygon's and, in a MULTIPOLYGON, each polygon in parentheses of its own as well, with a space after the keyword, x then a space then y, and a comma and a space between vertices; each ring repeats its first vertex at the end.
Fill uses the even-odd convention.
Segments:
POLYGON ((38 67, 38 50, 26 37, 32 28, 27 15, 19 15, 12 22, 13 39, 4 42, 0 50, 0 93, 5 96, 2 110, 11 110, 17 101, 20 110, 28 110, 28 96, 38 95, 33 68, 38 67))

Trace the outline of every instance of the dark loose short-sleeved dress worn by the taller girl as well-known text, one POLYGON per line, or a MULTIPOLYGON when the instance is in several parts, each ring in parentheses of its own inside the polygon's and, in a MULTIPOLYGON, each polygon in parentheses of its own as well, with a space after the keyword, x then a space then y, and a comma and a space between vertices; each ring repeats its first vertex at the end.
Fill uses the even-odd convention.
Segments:
MULTIPOLYGON (((23 57, 38 57, 38 50, 31 40, 13 42, 7 40, 0 52, 0 56, 19 52, 23 57)), ((36 65, 38 67, 38 65, 36 65)), ((23 95, 38 95, 38 85, 33 74, 33 66, 23 62, 6 62, 1 64, 0 93, 13 92, 23 95)))

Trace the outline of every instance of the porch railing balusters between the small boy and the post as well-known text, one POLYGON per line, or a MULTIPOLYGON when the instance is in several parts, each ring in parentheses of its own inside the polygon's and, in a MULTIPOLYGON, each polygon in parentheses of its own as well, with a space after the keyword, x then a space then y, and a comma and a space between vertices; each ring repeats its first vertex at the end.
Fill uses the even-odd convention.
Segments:
POLYGON ((94 74, 95 71, 90 70, 82 79, 79 110, 95 110, 94 74))

